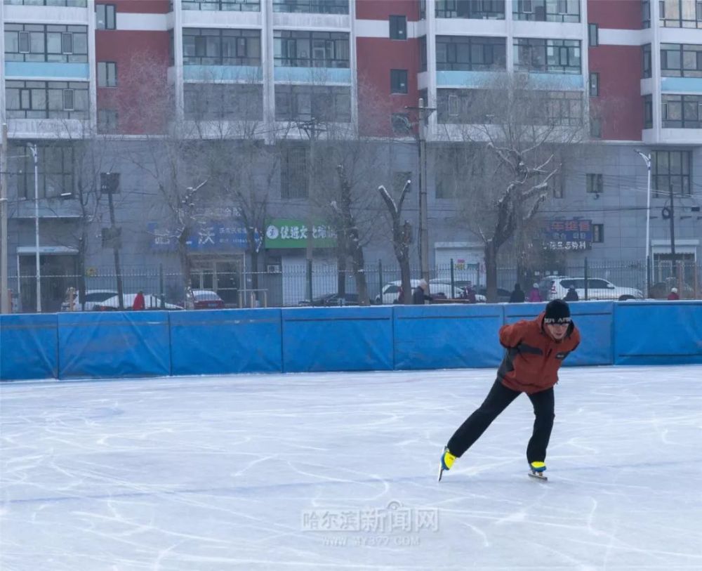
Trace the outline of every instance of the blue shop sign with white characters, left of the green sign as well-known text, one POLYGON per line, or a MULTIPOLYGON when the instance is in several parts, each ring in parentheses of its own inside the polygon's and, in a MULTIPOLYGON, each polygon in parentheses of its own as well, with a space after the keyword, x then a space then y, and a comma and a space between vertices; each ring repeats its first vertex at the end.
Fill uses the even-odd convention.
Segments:
MULTIPOLYGON (((150 222, 147 229, 152 235, 152 250, 174 251, 177 249, 176 232, 159 229, 156 222, 150 222)), ((197 228, 194 228, 185 243, 190 251, 244 250, 248 245, 246 228, 240 220, 200 223, 197 228)))

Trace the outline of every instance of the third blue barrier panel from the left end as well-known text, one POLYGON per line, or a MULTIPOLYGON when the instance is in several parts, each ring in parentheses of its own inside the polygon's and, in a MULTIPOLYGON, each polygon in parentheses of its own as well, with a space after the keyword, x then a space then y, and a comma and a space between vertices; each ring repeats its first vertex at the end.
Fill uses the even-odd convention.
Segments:
POLYGON ((279 309, 171 313, 174 375, 282 372, 279 309))

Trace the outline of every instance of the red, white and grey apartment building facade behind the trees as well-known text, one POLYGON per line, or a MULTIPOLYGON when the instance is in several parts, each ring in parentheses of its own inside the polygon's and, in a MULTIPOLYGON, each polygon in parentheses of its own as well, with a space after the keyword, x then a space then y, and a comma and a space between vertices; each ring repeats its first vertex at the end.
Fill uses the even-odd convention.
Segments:
MULTIPOLYGON (((453 260, 477 268, 473 279, 482 281, 484 244, 461 223, 461 199, 446 192, 449 175, 439 164, 452 137, 461 143, 461 126, 482 121, 475 93, 505 73, 537 81, 548 92, 545 113, 590 118, 586 151, 562 166, 541 209, 546 247, 572 265, 585 257, 644 262, 648 254, 658 281, 673 261, 698 264, 702 255, 701 7, 695 0, 4 0, 8 287, 20 290, 22 310, 35 310, 40 282, 42 309, 58 310, 70 276, 104 272, 115 256, 135 273, 159 265, 178 273, 159 181, 139 162, 174 130, 284 147, 270 172, 259 169, 268 183, 265 221, 254 232, 260 239, 247 242, 236 199, 196 204, 201 231, 187 243, 193 287, 217 289, 237 305, 239 291, 258 289, 247 277, 252 262, 273 280, 310 258, 314 275, 338 269, 329 220, 312 208, 314 176, 300 166, 314 148, 322 152, 332 129, 376 145, 373 188, 397 190, 409 178, 425 192, 424 220, 421 192, 408 199, 406 217, 425 232, 430 267, 453 260), (100 150, 86 150, 96 138, 100 150), (91 189, 97 202, 84 199, 91 189), (313 239, 305 239, 308 228, 313 239), (32 279, 37 265, 41 281, 32 279)), ((376 230, 366 261, 390 266, 389 233, 376 230)), ((511 287, 512 277, 505 280, 511 287)), ((137 287, 154 289, 135 278, 125 291, 137 287)), ((281 291, 269 292, 274 303, 305 296, 304 288, 281 291)))

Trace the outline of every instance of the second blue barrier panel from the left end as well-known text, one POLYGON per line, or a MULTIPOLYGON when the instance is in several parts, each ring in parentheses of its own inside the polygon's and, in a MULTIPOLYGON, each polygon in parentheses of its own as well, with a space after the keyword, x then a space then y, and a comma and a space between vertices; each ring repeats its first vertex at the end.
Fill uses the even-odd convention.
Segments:
POLYGON ((58 314, 59 378, 171 374, 166 311, 58 314))

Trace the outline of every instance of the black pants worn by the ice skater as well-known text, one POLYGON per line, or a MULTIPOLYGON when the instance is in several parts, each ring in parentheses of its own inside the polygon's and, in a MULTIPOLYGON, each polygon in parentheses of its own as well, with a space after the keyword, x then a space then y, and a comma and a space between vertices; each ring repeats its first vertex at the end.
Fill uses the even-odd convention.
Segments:
MULTIPOLYGON (((461 457, 473 443, 480 438, 485 429, 490 426, 498 415, 506 409, 512 400, 520 394, 504 386, 501 381, 495 381, 487 397, 480 407, 458 427, 449 440, 449 451, 454 456, 461 457)), ((546 448, 553 428, 553 388, 542 390, 540 393, 528 395, 534 405, 534 431, 527 446, 527 461, 543 462, 546 459, 546 448)))

